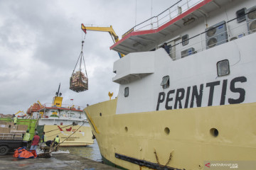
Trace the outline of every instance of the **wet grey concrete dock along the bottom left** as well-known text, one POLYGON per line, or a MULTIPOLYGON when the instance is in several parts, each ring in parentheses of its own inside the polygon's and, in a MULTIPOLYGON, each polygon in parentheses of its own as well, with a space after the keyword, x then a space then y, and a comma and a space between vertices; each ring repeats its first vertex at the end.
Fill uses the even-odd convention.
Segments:
POLYGON ((75 154, 53 154, 50 158, 18 159, 13 154, 0 156, 0 169, 79 169, 79 170, 117 170, 112 166, 79 157, 75 154))

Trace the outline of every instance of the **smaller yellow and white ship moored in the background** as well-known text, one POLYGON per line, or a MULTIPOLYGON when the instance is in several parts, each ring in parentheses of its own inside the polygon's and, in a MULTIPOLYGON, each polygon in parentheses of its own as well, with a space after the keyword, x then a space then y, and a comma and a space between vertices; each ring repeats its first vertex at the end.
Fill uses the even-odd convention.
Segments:
MULTIPOLYGON (((35 129, 39 136, 46 133, 46 140, 53 140, 57 135, 60 138, 61 147, 83 147, 92 145, 92 128, 87 121, 84 107, 63 104, 63 97, 58 91, 53 97, 52 103, 33 103, 26 112, 28 118, 36 120, 35 129)), ((21 121, 21 120, 20 120, 21 121)))

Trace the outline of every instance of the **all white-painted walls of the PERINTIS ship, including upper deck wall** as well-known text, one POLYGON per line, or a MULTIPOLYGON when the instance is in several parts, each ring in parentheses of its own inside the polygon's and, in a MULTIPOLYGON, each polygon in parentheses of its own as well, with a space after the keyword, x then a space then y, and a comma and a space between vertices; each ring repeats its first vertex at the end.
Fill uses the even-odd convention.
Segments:
MULTIPOLYGON (((252 6, 255 6, 255 1, 252 0, 234 1, 227 6, 222 6, 208 13, 206 18, 207 27, 220 23, 220 21, 229 21, 236 18, 236 11, 252 6)), ((191 38, 198 33, 203 33, 206 29, 206 23, 204 18, 199 18, 194 23, 166 35, 159 44, 170 42, 170 40, 185 34, 188 34, 188 38, 191 38)), ((235 20, 228 23, 228 35, 230 35, 228 39, 240 33, 247 35, 246 32, 246 21, 238 23, 235 20)), ((171 52, 174 52, 176 56, 171 55, 173 59, 167 55, 163 48, 160 48, 154 52, 130 53, 117 60, 114 63, 114 72, 117 75, 113 78, 113 81, 120 84, 117 96, 117 114, 156 111, 159 93, 164 92, 167 96, 171 90, 175 90, 175 93, 171 94, 173 101, 170 101, 168 106, 172 106, 172 109, 174 109, 176 91, 181 88, 185 89, 184 98, 181 100, 181 108, 184 108, 188 86, 191 86, 188 100, 188 108, 190 108, 193 86, 197 86, 199 90, 201 84, 203 84, 201 107, 206 107, 210 94, 210 87, 207 87, 206 84, 214 81, 220 81, 220 84, 214 88, 212 106, 219 106, 223 80, 225 79, 228 80, 225 105, 228 105, 228 98, 237 99, 240 97, 239 93, 230 90, 230 81, 235 77, 246 77, 247 79, 246 82, 235 83, 235 88, 245 89, 245 100, 242 103, 255 102, 255 89, 252 88, 256 81, 255 39, 256 34, 251 34, 206 50, 206 35, 202 34, 189 40, 188 45, 174 47, 171 52), (197 53, 181 58, 181 51, 190 47, 194 47, 197 53), (218 77, 216 65, 222 60, 229 61, 230 74, 225 77, 218 77), (161 80, 167 75, 169 76, 170 86, 168 89, 163 89, 160 86, 161 80), (129 96, 124 97, 126 87, 129 87, 129 96)), ((181 42, 181 40, 176 40, 176 43, 178 42, 181 42)), ((166 110, 166 96, 164 102, 159 104, 159 111, 166 110)), ((193 101, 193 108, 195 107, 197 107, 196 99, 193 101)))

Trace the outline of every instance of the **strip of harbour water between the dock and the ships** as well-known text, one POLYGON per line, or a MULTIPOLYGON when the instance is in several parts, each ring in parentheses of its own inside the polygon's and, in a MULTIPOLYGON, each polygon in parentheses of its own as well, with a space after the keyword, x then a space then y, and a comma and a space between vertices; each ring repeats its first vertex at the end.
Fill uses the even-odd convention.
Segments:
MULTIPOLYGON (((80 157, 85 157, 87 159, 91 159, 97 162, 102 162, 102 157, 100 154, 99 146, 97 145, 97 140, 92 145, 88 145, 86 147, 60 147, 61 151, 70 152, 70 154, 75 154, 80 157)), ((54 154, 54 153, 53 153, 54 154)))

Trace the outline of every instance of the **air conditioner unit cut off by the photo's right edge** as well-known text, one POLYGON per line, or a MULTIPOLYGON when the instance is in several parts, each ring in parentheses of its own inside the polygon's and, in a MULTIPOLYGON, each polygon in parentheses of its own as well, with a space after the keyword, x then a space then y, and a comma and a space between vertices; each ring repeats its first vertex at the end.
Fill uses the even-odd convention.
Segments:
POLYGON ((246 22, 247 22, 247 28, 248 33, 255 33, 256 32, 256 6, 253 6, 252 8, 248 8, 246 10, 246 22))

